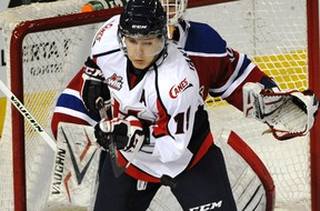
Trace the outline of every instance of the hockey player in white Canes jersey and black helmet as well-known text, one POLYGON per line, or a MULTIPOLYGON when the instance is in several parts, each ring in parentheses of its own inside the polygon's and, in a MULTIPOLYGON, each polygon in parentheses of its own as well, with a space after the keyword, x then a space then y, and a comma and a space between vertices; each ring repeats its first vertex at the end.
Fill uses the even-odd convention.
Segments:
POLYGON ((100 28, 86 71, 97 69, 106 79, 112 109, 111 119, 94 127, 98 143, 109 149, 94 210, 147 210, 162 175, 177 180, 172 192, 183 210, 206 204, 237 210, 222 153, 213 144, 197 72, 190 59, 168 42, 167 17, 159 1, 130 0, 120 18, 100 28), (119 178, 110 163, 111 141, 121 162, 140 148, 119 178), (141 141, 143 145, 138 147, 141 141), (148 184, 138 187, 138 181, 148 184))

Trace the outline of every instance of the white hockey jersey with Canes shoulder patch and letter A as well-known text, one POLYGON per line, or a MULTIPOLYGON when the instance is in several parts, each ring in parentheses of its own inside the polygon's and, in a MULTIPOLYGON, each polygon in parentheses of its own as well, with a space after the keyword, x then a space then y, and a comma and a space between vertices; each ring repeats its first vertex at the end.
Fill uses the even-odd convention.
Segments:
MULTIPOLYGON (((191 168, 213 143, 199 78, 190 59, 169 42, 143 78, 130 88, 130 70, 117 39, 119 16, 98 30, 91 59, 102 70, 111 94, 112 115, 136 115, 149 128, 146 144, 126 170, 133 178, 159 182, 162 174, 176 177, 191 168)), ((120 150, 120 163, 131 152, 120 150)))

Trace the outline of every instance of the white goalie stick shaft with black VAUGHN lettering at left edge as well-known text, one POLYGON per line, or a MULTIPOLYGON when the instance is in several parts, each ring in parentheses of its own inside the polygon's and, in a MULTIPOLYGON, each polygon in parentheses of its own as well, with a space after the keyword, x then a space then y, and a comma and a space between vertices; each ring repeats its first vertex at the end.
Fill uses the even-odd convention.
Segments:
POLYGON ((44 129, 38 123, 36 118, 26 109, 20 100, 7 88, 7 86, 0 80, 0 89, 11 101, 11 103, 18 109, 18 111, 30 122, 32 128, 43 138, 43 140, 56 151, 56 142, 49 137, 44 129))

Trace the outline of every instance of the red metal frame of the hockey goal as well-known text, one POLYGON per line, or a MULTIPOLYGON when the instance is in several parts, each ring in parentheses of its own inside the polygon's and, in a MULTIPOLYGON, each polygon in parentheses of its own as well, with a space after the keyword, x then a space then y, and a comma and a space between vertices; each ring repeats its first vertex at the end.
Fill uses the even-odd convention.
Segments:
MULTIPOLYGON (((229 2, 228 0, 189 0, 189 7, 200 7, 212 3, 229 2)), ((233 2, 233 1, 232 1, 233 2)), ((318 0, 307 0, 308 14, 308 82, 309 87, 314 90, 317 96, 320 96, 319 88, 319 2, 318 0), (311 57, 312 56, 312 57, 311 57)), ((53 30, 66 28, 66 26, 76 27, 104 21, 108 17, 119 13, 121 8, 111 9, 108 11, 97 11, 91 13, 71 13, 63 17, 53 17, 39 20, 27 20, 20 23, 12 32, 10 42, 10 79, 12 92, 23 102, 23 39, 29 33, 39 31, 53 30), (63 20, 62 20, 63 19, 63 20)), ((219 30, 218 30, 219 31, 219 30)), ((227 40, 228 41, 228 40, 227 40)), ((244 52, 246 53, 246 52, 244 52)), ((27 191, 26 191, 26 160, 24 160, 24 120, 23 117, 16 110, 11 109, 13 140, 13 177, 14 177, 14 210, 24 210, 27 208, 27 191)), ((311 159, 311 198, 312 210, 320 210, 320 133, 319 120, 310 133, 310 159, 311 159)), ((27 131, 28 132, 28 131, 27 131)), ((281 158, 279 158, 281 159, 281 158)), ((271 172, 272 173, 272 172, 271 172)), ((277 184, 276 184, 277 185, 277 184)), ((276 187, 277 188, 277 187, 276 187)), ((277 197, 276 197, 277 198, 277 197)))

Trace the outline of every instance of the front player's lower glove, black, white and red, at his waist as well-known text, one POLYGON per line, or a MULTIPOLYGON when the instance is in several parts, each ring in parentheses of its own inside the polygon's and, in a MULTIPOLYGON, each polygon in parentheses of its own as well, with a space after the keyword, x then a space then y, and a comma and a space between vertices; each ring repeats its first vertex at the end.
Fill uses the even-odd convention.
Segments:
POLYGON ((97 142, 103 149, 108 149, 109 140, 113 139, 118 150, 132 151, 136 145, 142 145, 144 133, 142 124, 133 115, 126 119, 114 118, 112 120, 103 119, 94 127, 97 142), (140 143, 140 144, 139 144, 140 143))

